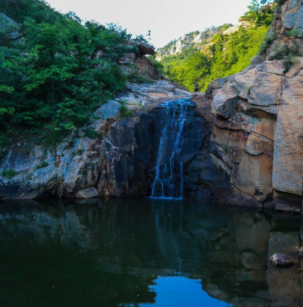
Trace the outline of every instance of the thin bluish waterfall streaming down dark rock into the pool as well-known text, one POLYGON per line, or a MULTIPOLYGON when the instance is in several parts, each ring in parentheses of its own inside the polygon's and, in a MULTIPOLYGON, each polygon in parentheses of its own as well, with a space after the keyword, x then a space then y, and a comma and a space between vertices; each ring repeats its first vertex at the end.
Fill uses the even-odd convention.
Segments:
POLYGON ((193 104, 187 99, 161 104, 162 130, 152 184, 154 198, 183 198, 183 132, 188 106, 193 104))

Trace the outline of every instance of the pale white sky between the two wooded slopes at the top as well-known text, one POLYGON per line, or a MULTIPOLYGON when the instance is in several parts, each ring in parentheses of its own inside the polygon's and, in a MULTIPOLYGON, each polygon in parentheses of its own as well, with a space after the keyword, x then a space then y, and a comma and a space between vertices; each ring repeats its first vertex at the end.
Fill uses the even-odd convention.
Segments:
POLYGON ((251 0, 47 0, 57 11, 82 20, 116 23, 133 35, 147 35, 159 48, 211 25, 237 23, 251 0))

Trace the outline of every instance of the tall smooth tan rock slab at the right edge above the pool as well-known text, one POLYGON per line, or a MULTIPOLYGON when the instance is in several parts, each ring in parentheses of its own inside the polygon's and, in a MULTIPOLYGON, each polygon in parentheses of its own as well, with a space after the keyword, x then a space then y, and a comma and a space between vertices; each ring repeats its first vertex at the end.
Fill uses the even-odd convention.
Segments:
POLYGON ((275 136, 273 187, 302 196, 303 72, 285 78, 275 136))

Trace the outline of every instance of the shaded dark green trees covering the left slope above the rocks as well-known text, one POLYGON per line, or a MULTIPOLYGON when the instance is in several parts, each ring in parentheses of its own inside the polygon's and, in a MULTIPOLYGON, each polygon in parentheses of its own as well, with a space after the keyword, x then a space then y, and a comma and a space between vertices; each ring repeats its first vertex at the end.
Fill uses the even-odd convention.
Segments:
POLYGON ((55 144, 125 88, 118 63, 136 47, 116 25, 82 25, 44 1, 8 3, 0 11, 23 23, 23 39, 0 46, 0 135, 30 130, 55 144))

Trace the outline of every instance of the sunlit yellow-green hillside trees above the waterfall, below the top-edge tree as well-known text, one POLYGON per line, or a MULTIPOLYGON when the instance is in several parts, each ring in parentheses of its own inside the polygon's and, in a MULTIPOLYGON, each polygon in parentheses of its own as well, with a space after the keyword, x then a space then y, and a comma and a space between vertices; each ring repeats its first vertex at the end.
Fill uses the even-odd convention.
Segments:
POLYGON ((194 90, 194 83, 198 82, 200 90, 205 90, 212 80, 247 68, 259 51, 267 30, 267 26, 240 27, 230 36, 220 32, 214 35, 207 51, 196 51, 188 57, 183 54, 169 56, 160 63, 171 80, 190 90, 194 90))

